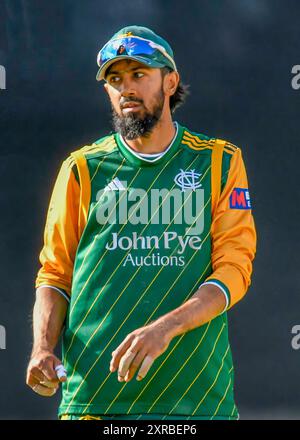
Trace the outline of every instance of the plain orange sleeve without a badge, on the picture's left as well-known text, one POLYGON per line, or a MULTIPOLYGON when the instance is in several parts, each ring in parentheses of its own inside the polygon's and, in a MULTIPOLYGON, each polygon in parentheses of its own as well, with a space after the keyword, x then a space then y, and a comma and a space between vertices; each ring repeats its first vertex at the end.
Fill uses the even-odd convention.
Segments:
POLYGON ((79 242, 78 216, 80 186, 69 158, 61 166, 52 192, 44 246, 40 253, 41 268, 35 287, 53 286, 70 295, 75 254, 79 242))

